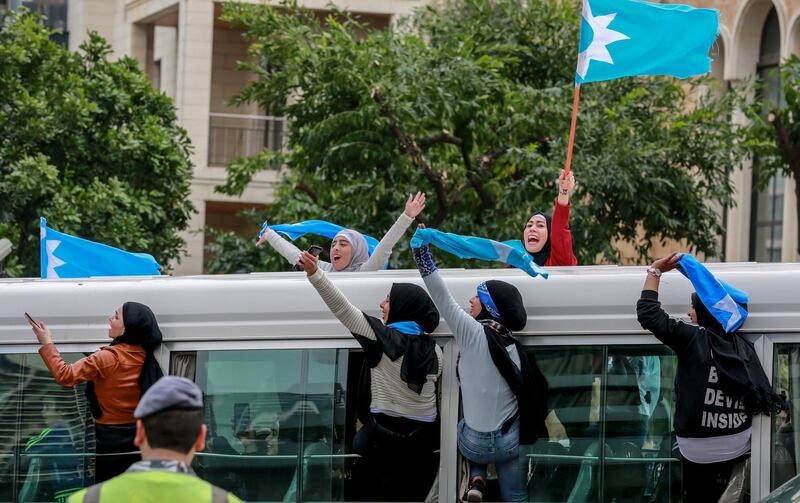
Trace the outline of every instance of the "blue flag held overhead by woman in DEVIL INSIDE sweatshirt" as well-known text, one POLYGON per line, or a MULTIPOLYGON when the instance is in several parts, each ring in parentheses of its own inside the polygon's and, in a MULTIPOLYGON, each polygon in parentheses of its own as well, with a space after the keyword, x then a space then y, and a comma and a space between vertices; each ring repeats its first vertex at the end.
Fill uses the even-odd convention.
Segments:
POLYGON ((688 253, 678 261, 678 270, 689 278, 700 301, 726 332, 739 330, 747 318, 747 311, 739 304, 750 302, 746 292, 719 281, 688 253))

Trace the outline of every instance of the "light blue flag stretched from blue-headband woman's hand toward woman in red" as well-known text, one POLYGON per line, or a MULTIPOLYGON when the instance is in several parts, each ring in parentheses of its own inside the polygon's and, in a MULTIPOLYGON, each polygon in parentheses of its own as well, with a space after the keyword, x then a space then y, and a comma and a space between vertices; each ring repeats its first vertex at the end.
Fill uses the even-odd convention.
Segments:
POLYGON ((533 277, 542 276, 547 279, 547 272, 536 265, 533 262, 533 257, 528 253, 499 241, 474 236, 461 236, 436 229, 417 229, 411 238, 411 247, 419 248, 425 244, 436 245, 437 248, 461 258, 503 262, 517 269, 522 269, 533 277))

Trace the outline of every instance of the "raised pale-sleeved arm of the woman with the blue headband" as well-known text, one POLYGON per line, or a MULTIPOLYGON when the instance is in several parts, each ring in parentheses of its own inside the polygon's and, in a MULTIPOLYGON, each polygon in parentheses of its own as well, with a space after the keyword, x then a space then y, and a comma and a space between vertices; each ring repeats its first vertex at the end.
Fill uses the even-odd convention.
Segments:
POLYGON ((412 248, 412 252, 414 253, 414 262, 417 264, 417 269, 422 275, 422 280, 428 288, 433 303, 436 304, 450 330, 453 331, 458 345, 463 350, 466 346, 476 342, 476 338, 483 336, 483 325, 464 311, 453 298, 433 262, 428 245, 412 248))

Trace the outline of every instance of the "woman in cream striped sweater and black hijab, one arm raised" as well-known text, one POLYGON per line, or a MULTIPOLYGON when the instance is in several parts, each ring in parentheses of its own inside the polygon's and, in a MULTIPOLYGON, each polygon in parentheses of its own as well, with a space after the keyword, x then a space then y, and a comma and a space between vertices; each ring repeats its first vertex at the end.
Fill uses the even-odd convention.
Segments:
POLYGON ((436 306, 423 288, 395 283, 380 304, 381 320, 350 304, 317 257, 305 252, 298 263, 364 349, 357 410, 363 427, 353 440, 362 456, 359 499, 423 501, 438 467, 442 350, 428 335, 439 325, 436 306))

